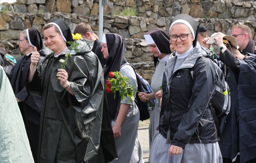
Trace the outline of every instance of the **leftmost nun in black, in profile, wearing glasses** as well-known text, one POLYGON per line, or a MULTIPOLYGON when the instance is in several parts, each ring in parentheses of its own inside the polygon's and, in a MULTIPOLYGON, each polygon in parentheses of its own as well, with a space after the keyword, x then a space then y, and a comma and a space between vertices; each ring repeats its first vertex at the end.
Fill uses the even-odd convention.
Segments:
POLYGON ((22 113, 32 155, 34 160, 36 160, 38 155, 37 151, 40 128, 41 96, 36 97, 30 95, 26 90, 24 80, 26 72, 28 71, 31 63, 30 57, 32 52, 34 52, 34 47, 41 55, 39 62, 41 62, 45 57, 46 51, 42 49, 42 37, 39 31, 35 28, 22 31, 20 33, 17 45, 19 46, 20 51, 25 55, 18 60, 16 65, 13 66, 10 82, 20 112, 22 113))

